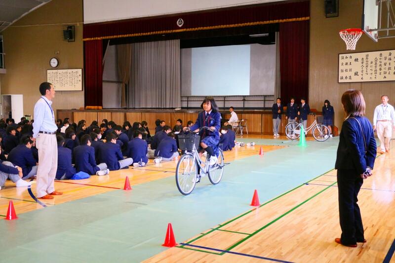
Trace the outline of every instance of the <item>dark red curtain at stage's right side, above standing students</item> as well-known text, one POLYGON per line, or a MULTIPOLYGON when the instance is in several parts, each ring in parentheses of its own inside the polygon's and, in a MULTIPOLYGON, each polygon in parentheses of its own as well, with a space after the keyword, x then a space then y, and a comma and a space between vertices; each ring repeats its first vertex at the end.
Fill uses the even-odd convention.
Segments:
POLYGON ((309 96, 309 21, 280 23, 280 97, 300 103, 309 96))

